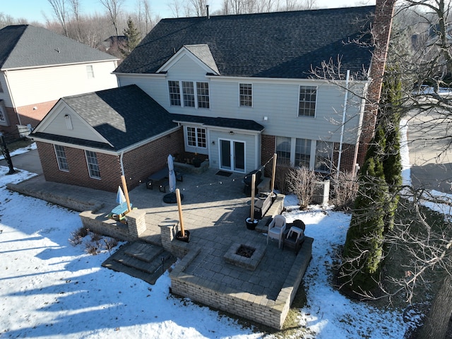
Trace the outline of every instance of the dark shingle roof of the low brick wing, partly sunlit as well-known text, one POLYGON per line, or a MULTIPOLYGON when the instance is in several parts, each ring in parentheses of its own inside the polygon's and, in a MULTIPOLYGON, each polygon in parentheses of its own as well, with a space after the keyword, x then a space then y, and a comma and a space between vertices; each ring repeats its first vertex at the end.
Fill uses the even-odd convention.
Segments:
MULTIPOLYGON (((76 138, 34 133, 49 140, 107 150, 121 150, 177 127, 172 115, 137 85, 128 85, 94 93, 63 97, 62 101, 113 145, 93 143, 76 138), (62 141, 58 139, 58 141, 62 141)), ((39 126, 39 125, 38 125, 39 126)), ((32 134, 33 135, 33 134, 32 134)))

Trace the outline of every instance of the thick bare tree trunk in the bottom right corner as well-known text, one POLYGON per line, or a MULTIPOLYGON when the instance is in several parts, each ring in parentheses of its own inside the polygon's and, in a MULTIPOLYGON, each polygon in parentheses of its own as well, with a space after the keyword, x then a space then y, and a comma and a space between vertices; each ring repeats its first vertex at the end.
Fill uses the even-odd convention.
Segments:
POLYGON ((447 272, 427 314, 420 339, 445 339, 452 314, 452 277, 447 272))

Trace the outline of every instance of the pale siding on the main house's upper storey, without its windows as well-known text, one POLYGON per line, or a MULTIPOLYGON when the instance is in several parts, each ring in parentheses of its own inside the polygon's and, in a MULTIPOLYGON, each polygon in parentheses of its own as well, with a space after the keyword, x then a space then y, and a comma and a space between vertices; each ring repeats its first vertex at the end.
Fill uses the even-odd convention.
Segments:
MULTIPOLYGON (((268 135, 340 141, 345 91, 338 85, 325 81, 207 78, 205 70, 188 57, 182 58, 169 69, 166 77, 119 75, 119 78, 121 85, 136 83, 171 113, 250 119, 263 125, 265 127, 263 133, 268 135), (168 80, 208 81, 210 109, 170 106, 168 80), (253 107, 239 107, 239 83, 252 83, 253 107), (300 85, 318 87, 316 117, 298 117, 300 85)), ((356 86, 358 93, 362 92, 363 84, 358 83, 356 86)), ((362 105, 363 102, 359 97, 349 95, 344 143, 357 142, 357 127, 362 105)))

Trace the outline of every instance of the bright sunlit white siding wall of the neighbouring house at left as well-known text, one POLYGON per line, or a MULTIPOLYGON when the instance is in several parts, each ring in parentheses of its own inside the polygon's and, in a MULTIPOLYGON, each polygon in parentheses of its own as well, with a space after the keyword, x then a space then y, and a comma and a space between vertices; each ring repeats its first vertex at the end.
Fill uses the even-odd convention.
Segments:
POLYGON ((112 74, 116 66, 114 61, 89 65, 93 65, 94 78, 88 78, 87 64, 7 71, 14 105, 21 107, 117 87, 116 76, 112 74))

